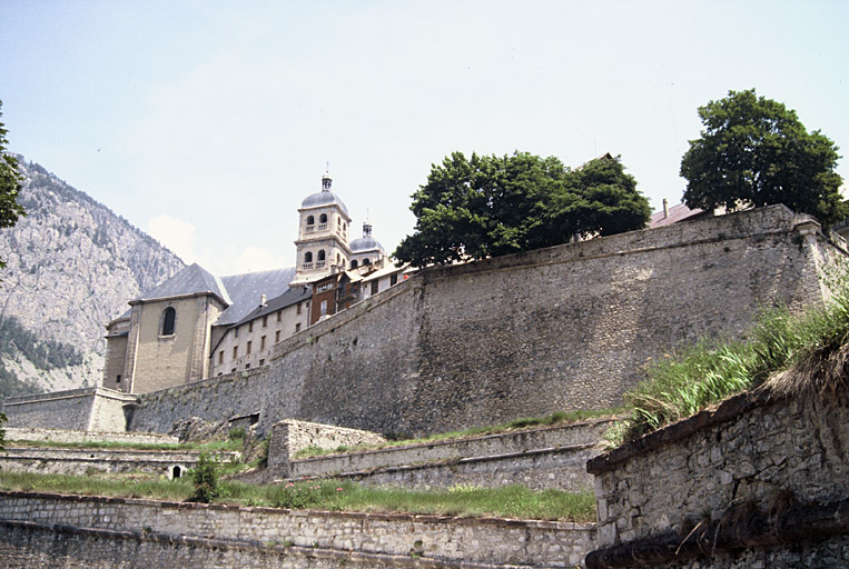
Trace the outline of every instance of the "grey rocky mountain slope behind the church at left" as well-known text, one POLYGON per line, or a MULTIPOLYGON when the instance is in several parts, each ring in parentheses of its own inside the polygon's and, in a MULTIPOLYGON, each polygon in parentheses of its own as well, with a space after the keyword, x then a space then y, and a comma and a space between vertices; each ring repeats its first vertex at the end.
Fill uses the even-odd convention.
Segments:
POLYGON ((0 231, 0 397, 96 385, 105 326, 184 267, 150 236, 19 159, 27 217, 0 231))

